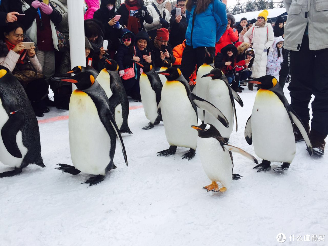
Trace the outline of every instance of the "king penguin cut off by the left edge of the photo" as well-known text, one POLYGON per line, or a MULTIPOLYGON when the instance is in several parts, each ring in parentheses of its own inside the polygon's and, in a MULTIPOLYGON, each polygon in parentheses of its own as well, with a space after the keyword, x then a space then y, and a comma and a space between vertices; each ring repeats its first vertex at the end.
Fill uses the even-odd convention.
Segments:
POLYGON ((14 170, 0 177, 20 174, 31 163, 45 167, 40 133, 30 100, 14 75, 0 66, 0 161, 14 170))

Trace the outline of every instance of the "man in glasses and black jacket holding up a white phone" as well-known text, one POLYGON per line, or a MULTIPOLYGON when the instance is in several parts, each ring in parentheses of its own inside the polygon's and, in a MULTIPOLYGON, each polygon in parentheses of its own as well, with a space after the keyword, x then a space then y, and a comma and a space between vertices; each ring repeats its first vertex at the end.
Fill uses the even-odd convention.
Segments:
POLYGON ((170 27, 170 44, 172 45, 172 48, 174 48, 175 46, 182 44, 186 37, 188 22, 186 19, 185 0, 176 0, 176 5, 171 10, 170 27), (181 14, 176 14, 176 8, 181 9, 181 14))

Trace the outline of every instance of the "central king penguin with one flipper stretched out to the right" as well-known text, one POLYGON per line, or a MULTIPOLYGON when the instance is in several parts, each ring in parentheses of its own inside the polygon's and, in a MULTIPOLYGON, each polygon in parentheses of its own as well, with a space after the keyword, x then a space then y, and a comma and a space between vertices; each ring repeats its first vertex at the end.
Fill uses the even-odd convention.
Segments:
POLYGON ((197 146, 197 132, 190 126, 198 124, 197 107, 215 115, 223 125, 229 127, 226 117, 211 103, 196 96, 190 91, 187 80, 178 68, 168 68, 161 73, 166 76, 160 101, 160 109, 164 123, 165 135, 170 148, 158 152, 158 155, 173 155, 177 146, 190 148, 189 152, 182 155, 188 160, 195 156, 197 146))

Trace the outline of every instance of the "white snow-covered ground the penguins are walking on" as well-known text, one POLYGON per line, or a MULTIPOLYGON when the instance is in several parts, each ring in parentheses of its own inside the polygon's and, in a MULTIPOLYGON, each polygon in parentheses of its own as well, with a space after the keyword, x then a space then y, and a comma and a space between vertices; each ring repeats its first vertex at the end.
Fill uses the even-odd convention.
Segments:
MULTIPOLYGON (((244 128, 256 91, 245 88, 230 144, 255 155, 244 128)), ((287 88, 285 94, 290 99, 287 88)), ((117 142, 117 169, 92 187, 81 184, 90 175, 54 169, 56 163, 72 165, 68 111, 51 108, 38 118, 46 168, 29 165, 19 176, 0 179, 1 246, 280 245, 281 233, 288 245, 328 244, 328 153, 311 157, 305 143, 297 143, 283 174, 256 173, 255 163, 235 153, 234 173, 243 177, 225 193, 207 193, 202 187, 210 181, 197 151, 190 161, 181 159, 186 148, 156 156, 169 147, 163 124, 141 130, 149 122, 141 103, 130 106, 139 107, 130 110, 133 135, 123 135, 129 167, 117 142), (314 241, 319 235, 326 238, 314 241)), ((8 170, 0 163, 0 172, 8 170)))

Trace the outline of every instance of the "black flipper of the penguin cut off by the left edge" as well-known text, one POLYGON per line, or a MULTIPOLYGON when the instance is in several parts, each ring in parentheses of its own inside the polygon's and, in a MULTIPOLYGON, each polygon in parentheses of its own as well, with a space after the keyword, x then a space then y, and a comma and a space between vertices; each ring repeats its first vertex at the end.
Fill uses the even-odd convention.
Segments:
POLYGON ((1 137, 7 151, 16 158, 22 158, 17 142, 16 134, 24 126, 25 117, 20 111, 10 114, 9 119, 1 129, 1 137))

